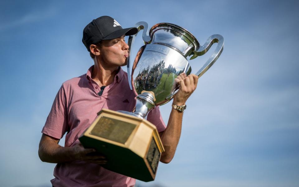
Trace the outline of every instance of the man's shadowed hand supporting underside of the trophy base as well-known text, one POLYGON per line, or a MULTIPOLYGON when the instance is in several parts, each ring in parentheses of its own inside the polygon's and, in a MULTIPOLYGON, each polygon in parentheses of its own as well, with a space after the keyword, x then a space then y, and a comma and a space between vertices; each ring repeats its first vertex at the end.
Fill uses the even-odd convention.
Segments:
POLYGON ((81 143, 78 143, 72 147, 71 155, 75 160, 88 161, 96 164, 106 164, 107 160, 101 153, 96 152, 95 149, 84 148, 81 143))

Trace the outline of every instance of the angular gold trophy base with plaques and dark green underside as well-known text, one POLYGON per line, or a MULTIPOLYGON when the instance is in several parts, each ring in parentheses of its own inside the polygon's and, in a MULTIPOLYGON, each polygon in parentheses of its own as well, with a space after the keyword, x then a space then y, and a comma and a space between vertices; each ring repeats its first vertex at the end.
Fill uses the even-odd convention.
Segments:
POLYGON ((103 109, 79 137, 107 158, 107 170, 145 182, 155 179, 164 152, 157 128, 145 119, 103 109))

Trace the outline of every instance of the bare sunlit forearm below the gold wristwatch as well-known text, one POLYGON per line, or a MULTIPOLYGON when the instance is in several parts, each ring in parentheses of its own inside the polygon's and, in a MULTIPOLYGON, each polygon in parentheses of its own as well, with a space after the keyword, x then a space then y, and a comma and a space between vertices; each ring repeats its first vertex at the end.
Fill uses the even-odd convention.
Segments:
POLYGON ((165 151, 161 155, 160 161, 169 163, 174 156, 181 136, 183 113, 172 109, 165 131, 162 133, 161 141, 165 151))

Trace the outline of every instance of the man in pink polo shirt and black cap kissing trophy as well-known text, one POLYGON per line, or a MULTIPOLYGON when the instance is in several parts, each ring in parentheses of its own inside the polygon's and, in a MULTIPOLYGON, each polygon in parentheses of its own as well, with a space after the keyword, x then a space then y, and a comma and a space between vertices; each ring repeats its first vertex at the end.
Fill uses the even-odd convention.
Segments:
MULTIPOLYGON (((83 30, 83 44, 94 60, 88 72, 64 82, 59 89, 42 130, 39 146, 41 161, 57 163, 53 186, 134 186, 135 179, 101 167, 107 160, 94 149, 85 149, 78 137, 89 127, 102 108, 132 111, 135 95, 129 88, 126 65, 129 46, 124 37, 137 33, 136 28, 122 29, 112 17, 102 16, 83 30), (65 146, 58 142, 67 132, 65 146)), ((197 86, 196 75, 181 74, 180 89, 173 104, 182 106, 197 86)), ((174 107, 175 108, 175 107, 174 107)), ((169 163, 181 134, 183 112, 172 109, 168 125, 162 120, 159 107, 151 110, 147 120, 161 137, 165 152, 160 161, 169 163)))

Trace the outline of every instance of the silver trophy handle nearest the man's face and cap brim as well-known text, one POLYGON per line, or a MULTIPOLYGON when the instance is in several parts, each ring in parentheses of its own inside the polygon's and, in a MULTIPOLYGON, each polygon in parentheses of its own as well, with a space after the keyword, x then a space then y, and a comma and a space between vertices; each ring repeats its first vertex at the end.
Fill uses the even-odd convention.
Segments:
POLYGON ((143 29, 142 39, 143 39, 144 43, 147 44, 151 40, 149 25, 147 24, 147 22, 138 22, 135 24, 134 27, 136 27, 138 29, 138 31, 135 35, 129 36, 129 40, 128 40, 129 50, 128 50, 128 57, 127 57, 127 73, 128 73, 128 80, 129 80, 129 85, 130 85, 131 90, 132 90, 132 81, 131 81, 131 79, 132 79, 131 78, 131 64, 132 64, 131 47, 132 47, 132 44, 134 43, 138 32, 142 29, 143 29))

